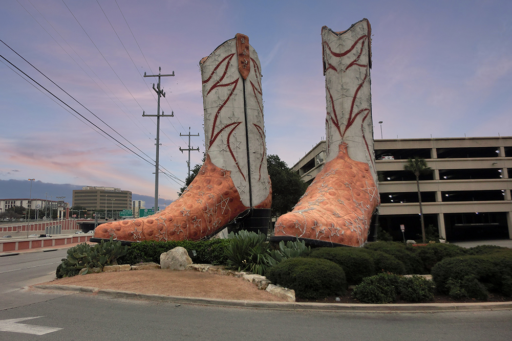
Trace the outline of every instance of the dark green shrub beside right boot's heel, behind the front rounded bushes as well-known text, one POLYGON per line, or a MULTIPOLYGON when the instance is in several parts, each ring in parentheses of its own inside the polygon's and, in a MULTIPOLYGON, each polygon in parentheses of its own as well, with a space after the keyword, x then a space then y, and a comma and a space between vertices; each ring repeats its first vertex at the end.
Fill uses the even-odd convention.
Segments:
POLYGON ((406 266, 406 274, 423 275, 427 273, 413 246, 399 242, 378 241, 366 244, 365 248, 383 252, 400 260, 406 266))

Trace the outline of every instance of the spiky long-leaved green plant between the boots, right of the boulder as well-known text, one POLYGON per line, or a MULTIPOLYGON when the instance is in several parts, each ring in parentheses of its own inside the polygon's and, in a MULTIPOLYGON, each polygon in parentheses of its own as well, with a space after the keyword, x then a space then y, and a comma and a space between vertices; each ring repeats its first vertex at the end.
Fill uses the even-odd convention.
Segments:
POLYGON ((240 230, 237 234, 228 235, 231 243, 226 247, 227 265, 238 271, 249 271, 253 274, 265 275, 268 263, 267 236, 240 230))

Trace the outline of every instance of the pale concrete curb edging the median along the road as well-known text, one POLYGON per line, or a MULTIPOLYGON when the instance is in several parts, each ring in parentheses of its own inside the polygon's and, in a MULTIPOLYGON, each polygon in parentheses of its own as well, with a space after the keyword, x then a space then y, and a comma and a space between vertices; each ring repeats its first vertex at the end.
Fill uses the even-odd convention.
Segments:
POLYGON ((118 291, 111 289, 99 289, 80 287, 73 285, 34 285, 33 288, 43 290, 61 290, 72 292, 87 292, 105 295, 114 298, 141 299, 158 302, 172 302, 177 304, 198 304, 221 307, 239 307, 271 310, 294 311, 331 311, 331 312, 365 312, 365 313, 389 313, 389 312, 458 312, 458 311, 494 311, 512 310, 512 302, 479 302, 479 303, 410 303, 410 304, 336 304, 336 303, 308 303, 308 302, 255 302, 218 300, 205 298, 190 298, 178 296, 166 296, 158 294, 137 293, 131 291, 118 291))

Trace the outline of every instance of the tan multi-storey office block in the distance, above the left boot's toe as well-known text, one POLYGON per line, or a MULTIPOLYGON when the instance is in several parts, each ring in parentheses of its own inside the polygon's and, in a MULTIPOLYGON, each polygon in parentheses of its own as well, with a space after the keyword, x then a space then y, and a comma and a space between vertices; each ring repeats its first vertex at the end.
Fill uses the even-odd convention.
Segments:
POLYGON ((86 186, 73 190, 73 206, 87 210, 122 211, 132 208, 132 192, 114 187, 86 186))

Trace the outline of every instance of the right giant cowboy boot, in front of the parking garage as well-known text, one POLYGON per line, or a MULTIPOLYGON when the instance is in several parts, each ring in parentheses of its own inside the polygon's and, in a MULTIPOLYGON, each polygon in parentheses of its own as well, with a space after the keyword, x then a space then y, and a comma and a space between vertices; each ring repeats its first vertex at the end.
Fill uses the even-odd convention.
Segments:
POLYGON ((326 83, 327 159, 293 211, 275 224, 272 240, 296 237, 317 245, 361 246, 379 204, 373 152, 367 19, 347 31, 322 28, 326 83))

